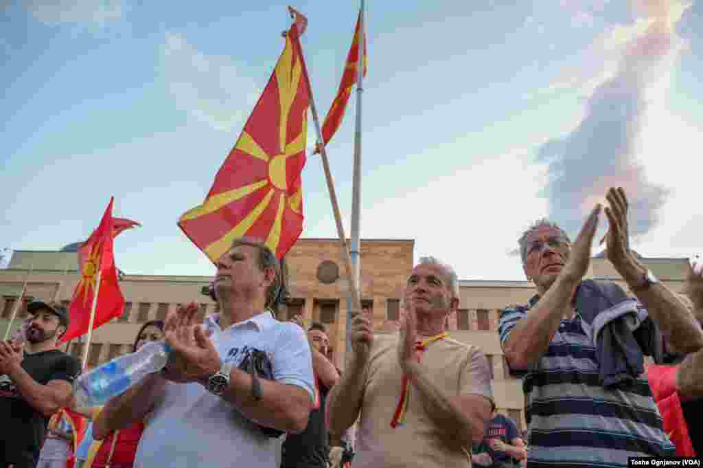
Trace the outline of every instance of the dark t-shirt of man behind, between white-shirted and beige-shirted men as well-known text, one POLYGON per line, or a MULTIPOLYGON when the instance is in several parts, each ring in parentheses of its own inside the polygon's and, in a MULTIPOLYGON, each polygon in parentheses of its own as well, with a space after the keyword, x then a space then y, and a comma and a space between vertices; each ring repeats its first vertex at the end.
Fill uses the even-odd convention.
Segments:
POLYGON ((330 442, 325 425, 325 404, 328 388, 318 379, 320 407, 310 412, 308 425, 300 434, 288 434, 283 442, 281 468, 327 468, 330 442))

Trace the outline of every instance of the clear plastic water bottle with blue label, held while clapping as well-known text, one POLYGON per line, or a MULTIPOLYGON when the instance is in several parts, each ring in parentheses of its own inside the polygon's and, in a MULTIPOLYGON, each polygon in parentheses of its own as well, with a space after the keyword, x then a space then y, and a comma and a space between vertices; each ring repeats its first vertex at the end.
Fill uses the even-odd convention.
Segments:
POLYGON ((76 404, 79 407, 105 405, 110 398, 121 395, 146 375, 163 369, 169 351, 165 341, 152 341, 136 353, 120 356, 82 374, 73 383, 76 404))

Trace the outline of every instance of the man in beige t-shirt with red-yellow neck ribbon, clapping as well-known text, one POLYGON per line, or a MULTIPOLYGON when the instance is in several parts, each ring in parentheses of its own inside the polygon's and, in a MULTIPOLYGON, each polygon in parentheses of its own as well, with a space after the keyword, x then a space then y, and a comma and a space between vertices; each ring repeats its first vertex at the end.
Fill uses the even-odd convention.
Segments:
POLYGON ((458 292, 449 265, 421 258, 399 333, 374 336, 371 317, 352 320, 354 353, 327 410, 333 433, 361 414, 354 468, 471 466, 472 441, 483 438, 494 404, 483 353, 444 332, 458 292))

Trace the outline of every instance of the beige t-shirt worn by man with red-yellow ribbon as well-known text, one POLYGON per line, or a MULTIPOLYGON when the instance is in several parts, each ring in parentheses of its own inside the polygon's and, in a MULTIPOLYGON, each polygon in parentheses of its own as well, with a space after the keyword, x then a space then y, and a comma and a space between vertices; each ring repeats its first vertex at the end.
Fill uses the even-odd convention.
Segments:
MULTIPOLYGON (((354 468, 468 468, 471 448, 446 445, 425 411, 418 389, 411 385, 405 424, 391 420, 401 394, 398 334, 376 335, 366 369, 354 468)), ((481 395, 491 402, 488 361, 476 346, 445 338, 422 354, 432 381, 447 395, 481 395)))

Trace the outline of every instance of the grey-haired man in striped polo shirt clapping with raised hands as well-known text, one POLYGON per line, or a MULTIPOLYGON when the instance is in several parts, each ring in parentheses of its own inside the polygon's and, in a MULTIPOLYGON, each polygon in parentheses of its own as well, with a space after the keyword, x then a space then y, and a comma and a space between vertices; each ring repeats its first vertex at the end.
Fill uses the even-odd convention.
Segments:
POLYGON ((519 241, 524 272, 537 294, 527 305, 503 309, 498 332, 511 372, 524 377, 529 468, 626 467, 628 457, 673 455, 647 377, 636 368, 642 367, 643 353, 662 360, 666 343, 681 351, 701 348, 703 334, 676 294, 629 250, 624 191, 610 189, 607 200, 607 258, 636 299, 612 283, 583 281, 600 205, 573 246, 547 220, 537 222, 519 241), (602 296, 607 300, 583 293, 586 284, 611 291, 602 296), (612 291, 621 291, 624 299, 608 302, 612 291), (589 301, 609 306, 594 319, 589 301), (603 326, 612 317, 629 321, 612 329, 603 326), (640 365, 630 369, 631 376, 609 374, 612 369, 627 371, 637 360, 640 365))

